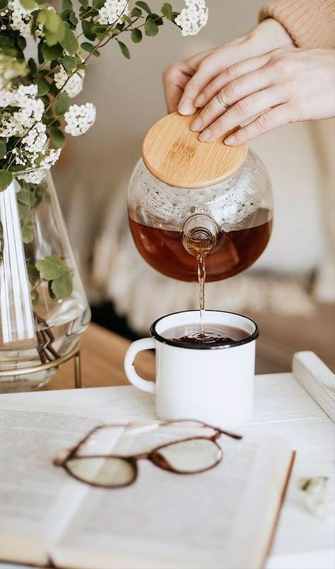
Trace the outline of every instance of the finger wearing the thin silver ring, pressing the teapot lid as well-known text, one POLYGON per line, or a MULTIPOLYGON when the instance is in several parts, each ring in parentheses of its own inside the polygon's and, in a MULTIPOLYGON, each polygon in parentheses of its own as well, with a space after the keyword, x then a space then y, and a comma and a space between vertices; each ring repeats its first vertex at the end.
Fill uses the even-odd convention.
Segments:
POLYGON ((235 105, 237 101, 246 98, 252 93, 263 91, 271 83, 271 74, 265 68, 253 71, 247 75, 230 81, 223 87, 215 97, 201 110, 201 113, 191 125, 191 129, 201 132, 211 125, 218 117, 228 111, 228 108, 235 105), (223 105, 223 103, 226 103, 223 105))

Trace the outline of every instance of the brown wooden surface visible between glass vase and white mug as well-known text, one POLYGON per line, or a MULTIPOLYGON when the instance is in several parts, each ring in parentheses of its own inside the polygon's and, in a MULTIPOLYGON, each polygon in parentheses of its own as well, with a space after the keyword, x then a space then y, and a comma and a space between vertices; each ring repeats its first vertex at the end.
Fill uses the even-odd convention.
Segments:
MULTIPOLYGON (((130 342, 90 323, 83 335, 81 348, 81 376, 83 387, 129 385, 124 373, 124 355, 130 342)), ((155 356, 141 352, 136 357, 136 369, 146 379, 155 377, 155 356)), ((42 389, 72 389, 74 387, 74 360, 63 364, 42 389)))

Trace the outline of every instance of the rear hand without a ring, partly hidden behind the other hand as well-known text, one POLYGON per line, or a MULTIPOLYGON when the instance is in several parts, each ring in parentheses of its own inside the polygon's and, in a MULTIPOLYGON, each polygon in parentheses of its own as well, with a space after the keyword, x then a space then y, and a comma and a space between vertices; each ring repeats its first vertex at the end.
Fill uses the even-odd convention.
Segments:
POLYGON ((168 112, 178 109, 182 115, 192 115, 196 111, 195 98, 221 71, 243 59, 285 46, 293 46, 290 35, 269 18, 242 38, 172 64, 163 76, 168 112))

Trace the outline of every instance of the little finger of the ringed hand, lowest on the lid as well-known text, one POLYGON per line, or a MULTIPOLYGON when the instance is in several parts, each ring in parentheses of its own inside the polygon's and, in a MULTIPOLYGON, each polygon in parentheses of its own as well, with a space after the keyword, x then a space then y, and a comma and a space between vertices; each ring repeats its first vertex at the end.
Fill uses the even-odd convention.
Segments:
POLYGON ((268 110, 263 115, 257 117, 257 119, 250 122, 246 127, 237 130, 234 134, 230 134, 230 137, 225 139, 225 144, 235 145, 248 142, 253 138, 259 137, 260 134, 264 134, 278 127, 283 127, 283 125, 287 125, 288 122, 291 122, 288 105, 278 105, 278 107, 268 110))

